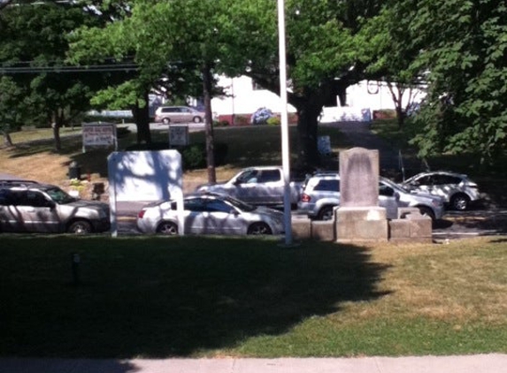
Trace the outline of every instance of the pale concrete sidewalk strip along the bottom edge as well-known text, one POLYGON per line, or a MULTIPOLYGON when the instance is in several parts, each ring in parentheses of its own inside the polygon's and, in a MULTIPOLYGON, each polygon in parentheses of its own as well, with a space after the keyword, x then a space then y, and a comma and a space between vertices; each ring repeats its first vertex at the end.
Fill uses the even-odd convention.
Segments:
POLYGON ((0 359, 0 373, 506 373, 507 354, 466 356, 71 360, 0 359))

